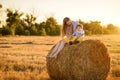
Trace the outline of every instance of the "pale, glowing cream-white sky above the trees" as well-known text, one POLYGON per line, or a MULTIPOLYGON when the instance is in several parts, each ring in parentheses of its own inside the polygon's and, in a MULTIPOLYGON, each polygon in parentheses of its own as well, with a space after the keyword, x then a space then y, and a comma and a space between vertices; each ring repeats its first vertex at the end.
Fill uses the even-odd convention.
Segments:
POLYGON ((120 27, 120 0, 0 0, 3 9, 34 14, 37 22, 54 16, 61 24, 64 17, 89 22, 101 21, 120 27))

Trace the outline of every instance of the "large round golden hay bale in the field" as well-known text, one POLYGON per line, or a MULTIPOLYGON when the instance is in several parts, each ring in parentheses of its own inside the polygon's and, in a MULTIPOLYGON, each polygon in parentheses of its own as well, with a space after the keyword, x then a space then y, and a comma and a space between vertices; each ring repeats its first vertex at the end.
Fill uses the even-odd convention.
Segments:
POLYGON ((110 70, 107 48, 99 40, 66 45, 57 58, 46 61, 51 80, 105 80, 110 70))

